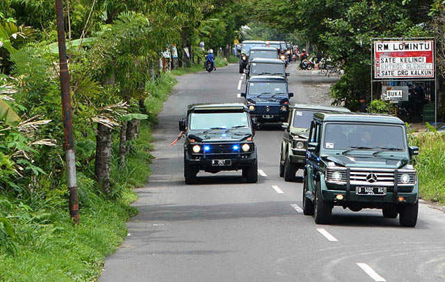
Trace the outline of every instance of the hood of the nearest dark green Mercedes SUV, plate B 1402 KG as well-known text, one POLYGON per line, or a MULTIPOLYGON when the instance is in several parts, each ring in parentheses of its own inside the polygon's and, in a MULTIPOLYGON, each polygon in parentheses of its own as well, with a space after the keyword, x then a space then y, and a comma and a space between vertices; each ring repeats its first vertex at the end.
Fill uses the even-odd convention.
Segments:
POLYGON ((373 156, 373 155, 338 155, 323 157, 330 162, 334 162, 340 166, 350 168, 368 167, 379 169, 401 169, 408 164, 407 158, 397 159, 395 157, 373 156))

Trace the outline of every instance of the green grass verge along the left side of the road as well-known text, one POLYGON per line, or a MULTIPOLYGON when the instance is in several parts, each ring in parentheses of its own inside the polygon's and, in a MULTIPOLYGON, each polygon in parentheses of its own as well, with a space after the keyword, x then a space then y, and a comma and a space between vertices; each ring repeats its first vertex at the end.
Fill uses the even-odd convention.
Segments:
POLYGON ((133 188, 143 186, 150 173, 151 127, 174 85, 170 74, 147 84, 149 119, 141 120, 124 169, 115 134, 110 196, 97 189, 93 163, 79 168, 79 226, 68 214, 66 184, 50 191, 0 191, 0 281, 97 279, 104 258, 127 236, 126 222, 138 212, 130 206, 138 198, 133 188))

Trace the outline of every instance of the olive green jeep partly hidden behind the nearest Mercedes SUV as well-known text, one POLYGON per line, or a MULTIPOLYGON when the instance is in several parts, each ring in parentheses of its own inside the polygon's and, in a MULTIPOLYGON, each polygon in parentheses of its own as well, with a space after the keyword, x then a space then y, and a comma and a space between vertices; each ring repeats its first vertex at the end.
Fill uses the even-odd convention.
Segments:
POLYGON ((295 180, 298 169, 305 168, 307 133, 314 113, 350 112, 343 107, 327 107, 313 104, 294 104, 287 123, 282 123, 284 136, 281 144, 280 177, 285 181, 295 180))

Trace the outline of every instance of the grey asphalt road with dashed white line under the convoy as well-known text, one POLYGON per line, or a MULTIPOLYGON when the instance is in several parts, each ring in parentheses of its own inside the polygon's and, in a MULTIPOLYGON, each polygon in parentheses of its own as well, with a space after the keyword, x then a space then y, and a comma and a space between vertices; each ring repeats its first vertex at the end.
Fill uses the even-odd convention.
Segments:
MULTIPOLYGON (((309 102, 301 79, 290 77, 293 102, 309 102)), ((135 203, 140 213, 100 281, 445 280, 443 212, 422 203, 416 228, 401 228, 380 210, 334 207, 332 224, 314 224, 302 214, 301 183, 278 176, 279 127, 255 136, 257 184, 241 172, 200 172, 198 185, 185 185, 181 142, 170 146, 178 120, 191 103, 241 102, 241 75, 229 65, 178 80, 159 115, 152 176, 135 203)))

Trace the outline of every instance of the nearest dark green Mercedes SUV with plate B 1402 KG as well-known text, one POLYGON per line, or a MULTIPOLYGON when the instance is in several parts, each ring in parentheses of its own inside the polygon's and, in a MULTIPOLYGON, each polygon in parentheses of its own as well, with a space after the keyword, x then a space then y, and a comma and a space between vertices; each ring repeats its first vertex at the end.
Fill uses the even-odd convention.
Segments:
POLYGON ((383 217, 414 227, 419 210, 417 173, 405 123, 387 115, 315 113, 309 130, 303 212, 328 224, 332 207, 381 209, 383 217))

